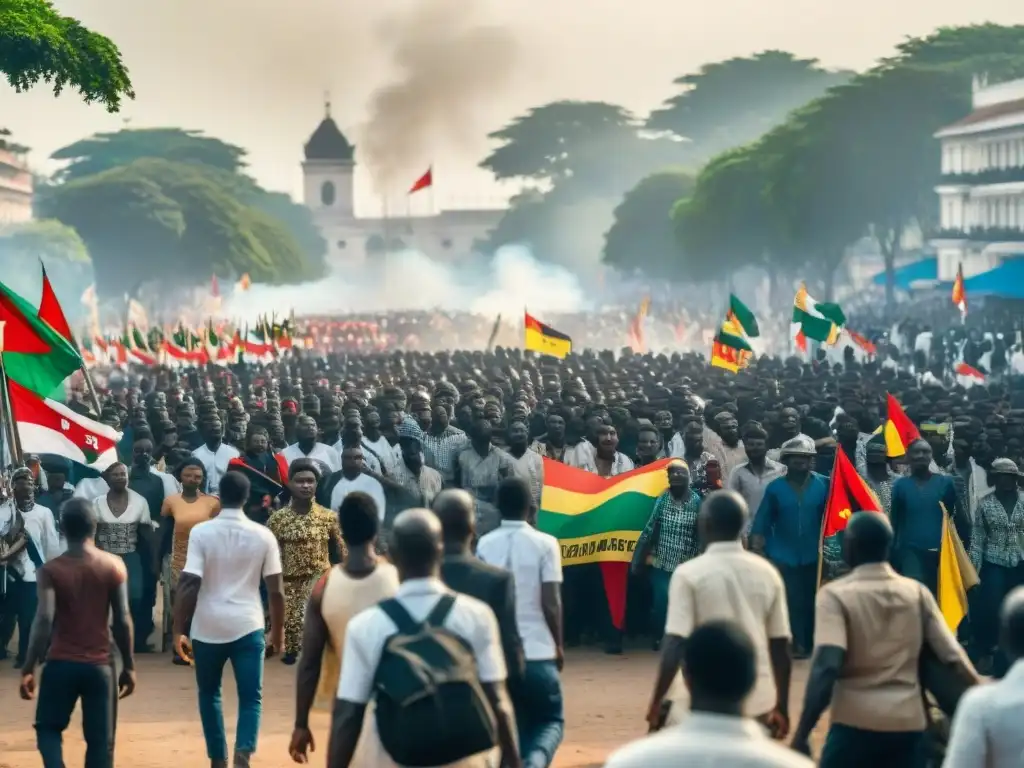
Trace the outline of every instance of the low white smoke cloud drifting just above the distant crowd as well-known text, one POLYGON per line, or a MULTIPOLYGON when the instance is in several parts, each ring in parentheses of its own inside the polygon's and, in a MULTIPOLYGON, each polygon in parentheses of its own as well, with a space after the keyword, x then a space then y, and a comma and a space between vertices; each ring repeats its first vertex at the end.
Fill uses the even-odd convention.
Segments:
POLYGON ((253 286, 224 302, 228 317, 255 321, 259 314, 332 315, 388 310, 434 309, 518 316, 574 312, 588 302, 577 278, 563 267, 543 264, 521 246, 500 248, 477 269, 440 264, 418 251, 388 256, 380 270, 335 272, 299 286, 253 286))

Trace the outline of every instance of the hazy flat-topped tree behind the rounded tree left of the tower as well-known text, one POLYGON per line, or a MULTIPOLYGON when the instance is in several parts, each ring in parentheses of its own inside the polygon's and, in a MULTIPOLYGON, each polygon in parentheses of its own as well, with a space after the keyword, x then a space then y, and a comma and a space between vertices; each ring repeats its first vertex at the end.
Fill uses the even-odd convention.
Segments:
POLYGON ((57 150, 50 158, 68 163, 54 174, 56 180, 66 183, 147 158, 201 166, 240 203, 286 226, 307 260, 317 269, 324 269, 327 242, 313 222, 312 213, 288 195, 268 191, 248 176, 247 155, 243 147, 206 136, 202 131, 146 128, 97 133, 57 150))

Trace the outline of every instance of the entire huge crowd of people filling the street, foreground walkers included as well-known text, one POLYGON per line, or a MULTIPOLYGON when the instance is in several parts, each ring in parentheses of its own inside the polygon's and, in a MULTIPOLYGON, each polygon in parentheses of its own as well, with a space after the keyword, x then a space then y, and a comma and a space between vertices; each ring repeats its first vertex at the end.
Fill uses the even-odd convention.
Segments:
POLYGON ((0 507, 0 648, 16 631, 44 764, 62 765, 82 698, 87 766, 112 765, 112 691, 131 693, 135 654, 169 640, 173 662, 195 667, 214 768, 256 751, 269 652, 297 665, 296 762, 319 702, 333 710, 332 768, 539 768, 563 737, 564 648, 621 653, 637 636, 659 648, 647 720, 665 732, 614 755, 616 768, 686 755, 807 765, 829 705, 821 765, 924 766, 923 647, 965 689, 979 672, 1005 676, 956 708, 947 764, 1018 765, 993 755, 1024 749, 998 730, 1024 651, 1024 379, 1004 331, 972 329, 957 345, 987 375, 971 386, 937 338, 951 337, 907 325, 878 357, 764 355, 735 375, 693 353, 554 360, 497 347, 295 350, 108 376, 98 418, 122 432, 121 461, 97 476, 31 458, 0 507), (900 458, 877 434, 887 394, 923 435, 900 458), (840 450, 882 514, 855 515, 822 545, 840 450), (670 460, 634 551, 625 631, 600 572, 577 565, 563 582, 558 542, 531 524, 545 459, 603 477, 670 460), (947 512, 980 573, 958 637, 935 601, 947 512), (173 618, 155 627, 161 588, 173 618), (792 659, 812 654, 791 729, 792 659), (458 728, 445 708, 465 714, 458 728), (985 728, 1004 740, 980 738, 985 728), (792 750, 768 740, 791 735, 792 750), (434 762, 415 762, 424 755, 434 762))

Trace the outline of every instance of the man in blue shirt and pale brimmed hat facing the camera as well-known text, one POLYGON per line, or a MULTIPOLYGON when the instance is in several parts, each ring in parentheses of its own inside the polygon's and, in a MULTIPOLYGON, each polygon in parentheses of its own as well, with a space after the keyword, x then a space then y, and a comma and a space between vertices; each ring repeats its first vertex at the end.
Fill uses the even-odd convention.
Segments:
POLYGON ((795 658, 807 658, 814 647, 821 519, 828 500, 827 480, 811 471, 814 455, 806 435, 782 443, 785 474, 768 483, 751 526, 753 549, 782 575, 795 658))

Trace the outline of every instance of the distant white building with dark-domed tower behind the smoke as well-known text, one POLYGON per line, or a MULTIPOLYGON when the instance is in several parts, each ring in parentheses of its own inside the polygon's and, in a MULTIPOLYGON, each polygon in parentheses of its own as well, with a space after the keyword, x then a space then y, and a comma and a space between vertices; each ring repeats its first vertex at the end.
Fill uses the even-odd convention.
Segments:
MULTIPOLYGON (((458 261, 473 252, 501 220, 503 210, 450 210, 432 216, 367 218, 355 215, 355 147, 331 117, 305 144, 303 202, 328 242, 328 263, 367 263, 386 251, 415 248, 438 261, 458 261)), ((420 193, 425 195, 427 193, 420 193)))

